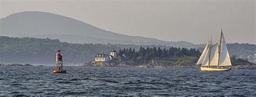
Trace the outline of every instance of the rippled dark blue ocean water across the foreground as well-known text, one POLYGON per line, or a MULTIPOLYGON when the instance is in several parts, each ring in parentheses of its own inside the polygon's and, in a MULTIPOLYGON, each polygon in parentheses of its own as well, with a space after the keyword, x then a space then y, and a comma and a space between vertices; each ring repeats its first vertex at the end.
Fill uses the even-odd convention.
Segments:
POLYGON ((0 95, 256 95, 255 70, 0 66, 0 95), (88 80, 88 78, 95 78, 88 80))

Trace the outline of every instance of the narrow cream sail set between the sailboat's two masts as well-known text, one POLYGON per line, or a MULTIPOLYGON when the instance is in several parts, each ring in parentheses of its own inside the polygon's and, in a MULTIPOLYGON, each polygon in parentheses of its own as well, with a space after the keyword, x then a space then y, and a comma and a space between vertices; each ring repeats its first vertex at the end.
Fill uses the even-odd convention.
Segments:
POLYGON ((218 65, 218 57, 219 57, 218 50, 219 50, 218 43, 211 47, 210 66, 218 65))

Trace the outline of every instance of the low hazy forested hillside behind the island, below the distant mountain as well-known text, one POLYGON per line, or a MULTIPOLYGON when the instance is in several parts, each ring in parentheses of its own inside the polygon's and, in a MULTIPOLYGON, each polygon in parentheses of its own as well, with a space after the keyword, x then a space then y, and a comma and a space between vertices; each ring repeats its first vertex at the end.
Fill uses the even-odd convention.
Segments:
MULTIPOLYGON (((251 44, 228 44, 227 46, 231 56, 236 55, 237 57, 244 54, 251 55, 255 53, 256 49, 255 45, 251 44)), ((65 64, 83 64, 93 60, 96 53, 109 54, 113 48, 119 51, 130 47, 132 49, 134 47, 136 51, 140 49, 140 45, 70 44, 60 42, 58 39, 0 36, 0 63, 55 64, 55 52, 60 49, 64 53, 65 64)), ((163 45, 143 45, 142 47, 170 49, 170 46, 163 45)))

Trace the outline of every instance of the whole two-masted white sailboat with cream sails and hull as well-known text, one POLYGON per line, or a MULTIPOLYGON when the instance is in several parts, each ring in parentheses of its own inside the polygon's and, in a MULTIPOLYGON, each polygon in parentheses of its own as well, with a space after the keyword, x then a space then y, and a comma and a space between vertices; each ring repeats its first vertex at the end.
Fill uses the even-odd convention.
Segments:
POLYGON ((221 29, 220 40, 212 44, 212 37, 205 46, 197 65, 201 64, 201 71, 229 71, 231 70, 230 54, 221 29))

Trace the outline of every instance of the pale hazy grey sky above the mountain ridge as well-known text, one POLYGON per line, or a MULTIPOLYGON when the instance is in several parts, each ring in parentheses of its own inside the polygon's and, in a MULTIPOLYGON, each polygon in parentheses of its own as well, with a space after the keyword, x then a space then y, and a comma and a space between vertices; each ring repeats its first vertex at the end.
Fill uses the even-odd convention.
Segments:
POLYGON ((256 43, 255 1, 63 1, 0 0, 0 17, 44 11, 71 17, 104 30, 195 44, 215 40, 221 27, 227 43, 256 43))

